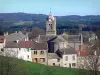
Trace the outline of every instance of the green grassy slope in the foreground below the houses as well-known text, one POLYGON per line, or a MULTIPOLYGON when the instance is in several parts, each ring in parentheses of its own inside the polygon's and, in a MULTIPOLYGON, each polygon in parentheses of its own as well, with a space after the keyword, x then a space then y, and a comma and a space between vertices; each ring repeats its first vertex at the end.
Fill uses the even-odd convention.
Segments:
POLYGON ((78 69, 51 67, 0 56, 0 75, 85 75, 78 69))

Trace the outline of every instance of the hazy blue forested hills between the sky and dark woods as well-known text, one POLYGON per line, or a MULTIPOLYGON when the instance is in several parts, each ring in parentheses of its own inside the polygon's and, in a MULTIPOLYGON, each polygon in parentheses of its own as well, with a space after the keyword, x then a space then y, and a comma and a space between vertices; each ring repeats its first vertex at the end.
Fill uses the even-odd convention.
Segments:
MULTIPOLYGON (((31 25, 45 26, 48 15, 28 13, 0 13, 0 26, 31 25)), ((57 26, 73 26, 79 24, 100 25, 100 15, 68 15, 56 16, 57 26)))

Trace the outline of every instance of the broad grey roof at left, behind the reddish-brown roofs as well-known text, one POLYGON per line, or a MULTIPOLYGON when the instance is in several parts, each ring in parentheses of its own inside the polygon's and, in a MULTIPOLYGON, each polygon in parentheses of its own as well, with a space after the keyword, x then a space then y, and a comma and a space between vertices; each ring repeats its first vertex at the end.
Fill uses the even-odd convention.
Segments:
POLYGON ((26 37, 28 36, 22 34, 21 32, 12 33, 6 36, 6 41, 25 40, 26 37))

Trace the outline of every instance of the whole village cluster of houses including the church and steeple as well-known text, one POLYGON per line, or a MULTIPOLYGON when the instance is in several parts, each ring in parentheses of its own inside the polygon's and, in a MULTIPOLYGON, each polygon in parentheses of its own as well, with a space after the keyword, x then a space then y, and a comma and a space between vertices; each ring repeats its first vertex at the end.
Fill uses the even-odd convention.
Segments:
MULTIPOLYGON (((95 39, 91 34, 87 41, 95 39)), ((79 58, 88 55, 83 33, 57 35, 56 18, 50 12, 46 20, 46 34, 29 40, 21 31, 0 36, 0 55, 14 57, 49 66, 78 68, 79 58)))

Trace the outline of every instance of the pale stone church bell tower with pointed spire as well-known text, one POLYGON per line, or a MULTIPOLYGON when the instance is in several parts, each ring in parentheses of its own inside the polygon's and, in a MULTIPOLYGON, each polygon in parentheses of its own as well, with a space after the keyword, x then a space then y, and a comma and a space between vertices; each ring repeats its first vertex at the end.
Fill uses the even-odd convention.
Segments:
POLYGON ((46 35, 56 35, 56 18, 51 11, 46 21, 46 35))

